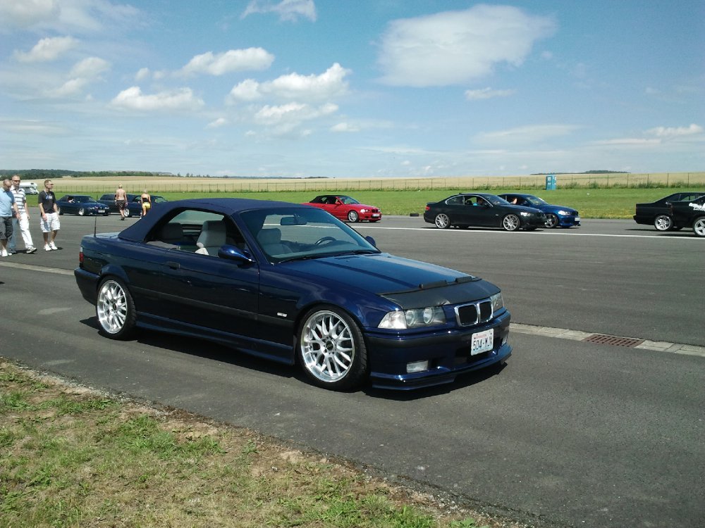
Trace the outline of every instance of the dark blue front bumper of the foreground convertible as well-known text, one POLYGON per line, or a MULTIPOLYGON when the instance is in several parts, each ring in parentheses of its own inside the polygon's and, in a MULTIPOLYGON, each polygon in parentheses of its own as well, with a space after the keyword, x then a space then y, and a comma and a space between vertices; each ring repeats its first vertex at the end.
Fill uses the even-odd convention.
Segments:
POLYGON ((504 363, 512 354, 508 344, 508 311, 487 323, 467 329, 391 339, 367 335, 370 381, 379 389, 410 390, 451 383, 458 375, 504 363), (494 329, 494 348, 470 356, 472 334, 494 329), (429 360, 429 370, 406 372, 407 363, 429 360))

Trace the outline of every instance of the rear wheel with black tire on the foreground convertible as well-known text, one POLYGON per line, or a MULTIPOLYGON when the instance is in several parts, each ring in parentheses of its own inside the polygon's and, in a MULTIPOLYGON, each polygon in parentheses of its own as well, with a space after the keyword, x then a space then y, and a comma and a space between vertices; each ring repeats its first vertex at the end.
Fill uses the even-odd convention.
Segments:
POLYGON ((133 333, 137 310, 130 291, 120 279, 108 277, 100 283, 95 315, 110 339, 127 339, 133 333))

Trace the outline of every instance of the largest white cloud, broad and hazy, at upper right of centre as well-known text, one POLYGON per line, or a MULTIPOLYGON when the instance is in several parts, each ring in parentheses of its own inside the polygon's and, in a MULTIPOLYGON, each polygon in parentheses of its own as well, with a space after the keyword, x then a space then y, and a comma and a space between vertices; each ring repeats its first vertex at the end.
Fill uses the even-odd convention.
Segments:
POLYGON ((382 36, 382 82, 396 86, 447 86, 481 79, 499 63, 520 65, 538 39, 553 34, 551 18, 512 6, 479 4, 393 20, 382 36))

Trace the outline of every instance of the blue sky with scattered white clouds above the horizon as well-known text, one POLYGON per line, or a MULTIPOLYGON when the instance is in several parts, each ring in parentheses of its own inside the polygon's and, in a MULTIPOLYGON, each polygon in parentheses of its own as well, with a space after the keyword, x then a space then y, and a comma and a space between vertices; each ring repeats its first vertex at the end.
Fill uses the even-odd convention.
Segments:
POLYGON ((0 0, 0 168, 705 170, 702 0, 0 0))

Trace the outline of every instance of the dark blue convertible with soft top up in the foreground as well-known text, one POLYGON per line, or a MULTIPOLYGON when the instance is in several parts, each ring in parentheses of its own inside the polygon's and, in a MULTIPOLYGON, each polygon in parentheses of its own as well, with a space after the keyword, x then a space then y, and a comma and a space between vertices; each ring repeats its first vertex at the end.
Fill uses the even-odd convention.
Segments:
POLYGON ((83 237, 75 279, 102 333, 135 327, 298 363, 327 389, 452 382, 511 354, 501 291, 383 253, 324 210, 172 201, 120 233, 83 237))

